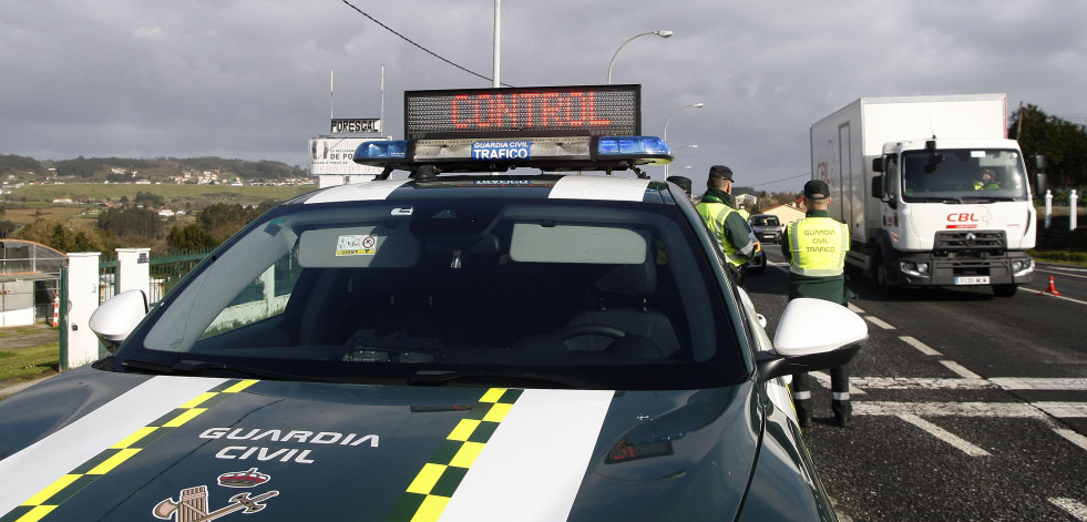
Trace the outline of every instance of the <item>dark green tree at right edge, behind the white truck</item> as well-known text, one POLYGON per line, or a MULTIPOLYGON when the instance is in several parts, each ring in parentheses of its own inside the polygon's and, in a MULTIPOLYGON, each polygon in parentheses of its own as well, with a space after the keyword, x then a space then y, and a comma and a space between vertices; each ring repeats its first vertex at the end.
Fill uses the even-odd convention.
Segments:
POLYGON ((1029 158, 1044 155, 1050 185, 1087 184, 1087 129, 1084 125, 1047 115, 1028 104, 1012 114, 1008 137, 1019 142, 1024 156, 1028 158, 1027 172, 1030 174, 1036 172, 1036 167, 1029 158))

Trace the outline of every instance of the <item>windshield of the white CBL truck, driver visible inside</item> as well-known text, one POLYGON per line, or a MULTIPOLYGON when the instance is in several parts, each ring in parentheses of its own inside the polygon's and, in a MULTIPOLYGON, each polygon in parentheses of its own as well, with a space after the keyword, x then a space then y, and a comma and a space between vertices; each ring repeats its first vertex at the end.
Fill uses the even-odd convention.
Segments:
POLYGON ((1029 198, 1018 151, 911 151, 902 154, 902 197, 906 202, 965 203, 1029 198))

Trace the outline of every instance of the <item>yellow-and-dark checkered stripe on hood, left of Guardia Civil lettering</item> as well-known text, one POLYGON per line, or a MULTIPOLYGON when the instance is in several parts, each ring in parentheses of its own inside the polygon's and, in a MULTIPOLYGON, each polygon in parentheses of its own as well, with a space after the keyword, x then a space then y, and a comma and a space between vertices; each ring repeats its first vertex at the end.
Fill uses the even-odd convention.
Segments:
POLYGON ((48 488, 19 504, 18 508, 0 516, 0 522, 34 522, 45 518, 61 503, 74 497, 83 488, 91 485, 102 475, 116 469, 144 448, 226 400, 230 395, 237 393, 256 382, 256 380, 228 380, 196 396, 154 422, 140 428, 105 451, 92 457, 64 477, 57 479, 48 488))

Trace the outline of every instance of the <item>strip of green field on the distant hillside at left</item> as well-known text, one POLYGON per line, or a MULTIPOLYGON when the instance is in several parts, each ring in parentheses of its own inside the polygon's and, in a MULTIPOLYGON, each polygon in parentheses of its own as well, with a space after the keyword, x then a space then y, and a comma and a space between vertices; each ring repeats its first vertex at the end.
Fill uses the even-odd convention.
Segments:
POLYGON ((25 197, 28 202, 52 202, 53 199, 65 197, 73 201, 107 201, 120 199, 121 196, 132 198, 137 192, 144 192, 162 196, 167 202, 207 197, 255 205, 267 199, 286 201, 315 188, 317 188, 316 184, 301 186, 229 186, 65 183, 62 185, 25 185, 12 191, 9 197, 12 201, 22 201, 25 197))

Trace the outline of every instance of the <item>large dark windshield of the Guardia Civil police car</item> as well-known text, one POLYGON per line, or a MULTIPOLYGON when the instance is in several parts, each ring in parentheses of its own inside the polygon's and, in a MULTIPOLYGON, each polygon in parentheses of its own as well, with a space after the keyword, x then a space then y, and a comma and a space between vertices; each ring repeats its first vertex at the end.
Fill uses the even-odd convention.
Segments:
POLYGON ((289 204, 206 259, 117 359, 338 381, 732 383, 748 375, 736 313, 688 223, 640 202, 289 204))

